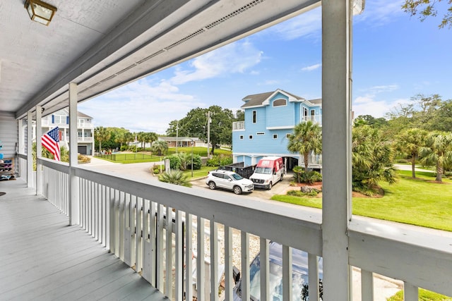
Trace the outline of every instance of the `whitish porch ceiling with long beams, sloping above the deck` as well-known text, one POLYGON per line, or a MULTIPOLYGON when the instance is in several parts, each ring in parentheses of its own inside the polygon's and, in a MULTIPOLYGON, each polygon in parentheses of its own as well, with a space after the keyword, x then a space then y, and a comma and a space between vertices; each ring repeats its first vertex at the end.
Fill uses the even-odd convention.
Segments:
POLYGON ((47 0, 44 26, 23 0, 0 2, 0 111, 83 102, 320 5, 319 0, 47 0))

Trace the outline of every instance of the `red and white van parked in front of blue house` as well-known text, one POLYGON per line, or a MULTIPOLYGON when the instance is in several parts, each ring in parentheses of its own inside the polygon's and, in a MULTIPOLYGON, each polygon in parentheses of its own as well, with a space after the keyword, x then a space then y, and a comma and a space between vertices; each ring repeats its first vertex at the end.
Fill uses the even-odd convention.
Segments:
POLYGON ((283 180, 285 168, 280 156, 264 156, 258 161, 254 173, 249 177, 254 187, 270 190, 275 183, 283 180))

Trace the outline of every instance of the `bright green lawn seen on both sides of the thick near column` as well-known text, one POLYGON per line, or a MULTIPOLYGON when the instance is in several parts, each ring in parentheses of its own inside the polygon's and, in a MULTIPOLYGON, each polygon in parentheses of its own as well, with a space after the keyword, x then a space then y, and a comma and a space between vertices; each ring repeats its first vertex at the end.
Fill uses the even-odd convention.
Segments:
MULTIPOLYGON (((434 174, 398 171, 398 183, 381 183, 383 197, 353 197, 352 212, 359 216, 397 221, 416 226, 452 231, 452 180, 434 183, 434 174)), ((272 199, 307 207, 321 208, 321 198, 275 195, 272 199)))

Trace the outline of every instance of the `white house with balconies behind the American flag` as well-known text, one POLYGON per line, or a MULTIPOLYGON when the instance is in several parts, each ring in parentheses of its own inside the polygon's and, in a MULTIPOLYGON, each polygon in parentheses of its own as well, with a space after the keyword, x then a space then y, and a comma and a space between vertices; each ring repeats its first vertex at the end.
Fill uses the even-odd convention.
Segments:
MULTIPOLYGON (((42 133, 58 126, 60 147, 64 146, 69 149, 69 110, 61 109, 42 117, 42 133)), ((33 125, 35 127, 35 125, 33 125)), ((33 133, 36 133, 35 130, 33 133)), ((35 135, 35 134, 33 134, 35 135)), ((35 136, 33 140, 35 140, 35 136)), ((94 149, 94 125, 93 118, 77 112, 77 143, 78 153, 93 155, 94 149)))

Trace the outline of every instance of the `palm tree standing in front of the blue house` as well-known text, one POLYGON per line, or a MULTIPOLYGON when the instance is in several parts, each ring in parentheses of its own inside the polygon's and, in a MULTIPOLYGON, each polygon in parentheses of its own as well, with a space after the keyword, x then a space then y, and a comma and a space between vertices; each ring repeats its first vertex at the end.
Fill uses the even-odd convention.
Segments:
POLYGON ((307 121, 295 125, 294 133, 289 136, 289 152, 299 153, 304 158, 304 171, 308 170, 309 154, 322 152, 322 133, 318 124, 307 121))

